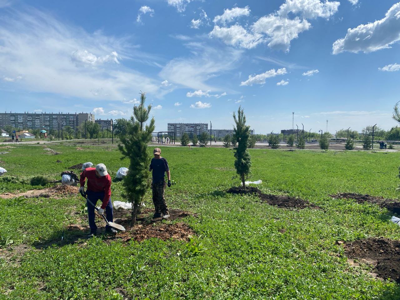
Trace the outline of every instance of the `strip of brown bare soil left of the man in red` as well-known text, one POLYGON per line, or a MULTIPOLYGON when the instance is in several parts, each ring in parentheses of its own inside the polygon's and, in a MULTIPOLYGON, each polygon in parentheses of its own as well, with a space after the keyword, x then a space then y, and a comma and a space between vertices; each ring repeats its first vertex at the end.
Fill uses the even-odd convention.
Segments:
POLYGON ((12 193, 5 193, 0 195, 3 199, 10 199, 15 197, 25 197, 25 198, 60 198, 60 196, 66 195, 76 195, 78 194, 78 187, 77 186, 52 186, 51 188, 44 188, 42 190, 29 190, 27 192, 19 193, 19 194, 12 194, 12 193))

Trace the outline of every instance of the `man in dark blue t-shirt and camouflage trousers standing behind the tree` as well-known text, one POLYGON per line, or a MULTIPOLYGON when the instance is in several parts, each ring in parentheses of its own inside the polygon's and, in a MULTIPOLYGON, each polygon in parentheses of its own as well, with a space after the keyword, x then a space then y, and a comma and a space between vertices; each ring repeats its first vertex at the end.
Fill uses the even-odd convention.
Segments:
POLYGON ((154 158, 152 158, 150 163, 149 171, 153 171, 153 203, 155 213, 153 218, 163 218, 167 219, 170 217, 168 214, 167 204, 164 199, 164 190, 165 190, 165 172, 167 172, 168 178, 168 188, 171 187, 171 173, 168 167, 168 162, 164 157, 161 157, 161 149, 155 148, 154 158))

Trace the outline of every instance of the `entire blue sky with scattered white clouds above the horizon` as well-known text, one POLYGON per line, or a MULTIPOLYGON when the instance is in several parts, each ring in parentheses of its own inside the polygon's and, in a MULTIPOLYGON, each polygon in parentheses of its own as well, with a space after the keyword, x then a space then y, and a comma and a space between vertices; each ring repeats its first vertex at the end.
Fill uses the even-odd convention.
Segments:
POLYGON ((16 112, 129 118, 139 91, 168 122, 257 133, 390 129, 400 2, 0 0, 0 99, 16 112), (295 126, 296 127, 296 126, 295 126))

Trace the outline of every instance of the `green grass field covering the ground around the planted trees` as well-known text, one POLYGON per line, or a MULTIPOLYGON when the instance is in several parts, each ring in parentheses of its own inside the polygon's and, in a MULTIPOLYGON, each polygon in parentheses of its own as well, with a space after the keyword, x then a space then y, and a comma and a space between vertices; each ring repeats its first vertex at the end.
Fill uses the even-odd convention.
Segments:
MULTIPOLYGON (((0 155, 0 166, 8 175, 54 179, 86 161, 106 164, 112 177, 128 166, 115 147, 78 146, 84 150, 51 145, 62 152, 57 156, 46 155, 44 146, 18 146, 0 155)), ((164 147, 162 156, 177 182, 166 190, 167 204, 197 214, 184 222, 196 232, 200 254, 192 255, 186 242, 177 240, 106 243, 101 236, 38 250, 35 246, 60 240, 66 226, 80 222, 82 198, 0 198, 0 249, 20 244, 32 249, 11 261, 0 258, 0 299, 400 298, 398 284, 373 279, 368 266, 350 266, 337 243, 370 236, 400 239, 399 226, 378 206, 329 196, 397 198, 399 153, 260 149, 250 154, 250 179, 261 179, 263 192, 300 197, 322 209, 287 210, 256 196, 226 194, 239 185, 230 149, 164 147)), ((0 182, 0 194, 29 189, 0 182)), ((113 183, 112 200, 123 200, 121 192, 121 182, 113 183)), ((146 205, 152 207, 150 190, 146 205)))

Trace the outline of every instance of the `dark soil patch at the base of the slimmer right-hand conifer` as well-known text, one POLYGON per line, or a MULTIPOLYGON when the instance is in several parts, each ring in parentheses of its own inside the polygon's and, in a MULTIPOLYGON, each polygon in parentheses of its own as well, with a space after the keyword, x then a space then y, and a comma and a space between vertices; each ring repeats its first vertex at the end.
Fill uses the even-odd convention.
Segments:
POLYGON ((263 194, 258 188, 254 186, 248 186, 246 189, 242 187, 232 187, 226 191, 227 193, 232 194, 256 194, 261 201, 267 202, 269 205, 278 206, 280 208, 293 208, 293 209, 304 209, 304 208, 314 208, 320 209, 319 206, 316 206, 307 200, 303 200, 300 198, 294 198, 290 196, 282 196, 282 195, 272 195, 272 194, 263 194))

